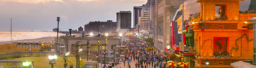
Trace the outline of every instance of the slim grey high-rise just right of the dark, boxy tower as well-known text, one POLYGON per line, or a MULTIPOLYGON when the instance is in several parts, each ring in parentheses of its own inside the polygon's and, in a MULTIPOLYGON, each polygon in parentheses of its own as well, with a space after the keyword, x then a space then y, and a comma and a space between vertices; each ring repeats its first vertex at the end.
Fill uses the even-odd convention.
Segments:
POLYGON ((139 18, 142 16, 142 8, 144 5, 139 7, 133 7, 133 26, 136 26, 136 24, 139 23, 139 18))

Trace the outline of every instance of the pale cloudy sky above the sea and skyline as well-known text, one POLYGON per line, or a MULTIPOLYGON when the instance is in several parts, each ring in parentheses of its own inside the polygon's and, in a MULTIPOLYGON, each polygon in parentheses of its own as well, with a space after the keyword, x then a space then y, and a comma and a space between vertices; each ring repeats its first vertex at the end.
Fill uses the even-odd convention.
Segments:
MULTIPOLYGON (((0 31, 52 31, 78 29, 94 21, 113 20, 116 13, 132 11, 147 0, 0 0, 0 31)), ((133 14, 132 14, 133 25, 133 14)))

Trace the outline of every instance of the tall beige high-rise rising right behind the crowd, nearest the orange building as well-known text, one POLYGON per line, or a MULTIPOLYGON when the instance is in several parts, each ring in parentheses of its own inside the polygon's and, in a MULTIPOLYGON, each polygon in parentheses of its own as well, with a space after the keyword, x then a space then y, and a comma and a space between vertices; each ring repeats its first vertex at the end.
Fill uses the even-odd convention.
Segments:
MULTIPOLYGON (((190 1, 190 0, 189 0, 190 1)), ((153 2, 153 1, 152 1, 153 2)), ((171 44, 171 26, 170 22, 174 18, 176 10, 182 4, 182 0, 157 0, 157 4, 152 4, 150 19, 154 22, 154 45, 160 50, 164 50, 167 44, 171 44), (154 12, 154 10, 156 12, 154 12)))

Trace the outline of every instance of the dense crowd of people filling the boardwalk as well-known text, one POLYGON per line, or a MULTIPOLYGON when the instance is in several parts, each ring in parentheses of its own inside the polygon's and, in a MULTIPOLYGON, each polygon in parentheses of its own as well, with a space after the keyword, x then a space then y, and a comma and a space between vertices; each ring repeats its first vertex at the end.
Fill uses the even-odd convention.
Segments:
POLYGON ((136 62, 135 68, 170 68, 166 62, 169 61, 167 55, 159 53, 158 49, 147 50, 145 45, 149 45, 142 39, 137 37, 129 37, 125 42, 125 45, 129 49, 129 53, 126 53, 120 60, 124 63, 124 66, 131 68, 130 63, 136 62))

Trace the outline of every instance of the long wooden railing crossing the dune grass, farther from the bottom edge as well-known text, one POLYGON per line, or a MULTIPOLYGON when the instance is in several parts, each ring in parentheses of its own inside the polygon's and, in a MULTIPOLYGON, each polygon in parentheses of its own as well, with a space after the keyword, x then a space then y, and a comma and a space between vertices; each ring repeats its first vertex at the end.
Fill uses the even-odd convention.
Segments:
POLYGON ((0 59, 8 59, 15 57, 31 57, 31 56, 48 56, 53 55, 52 52, 16 52, 16 53, 7 53, 1 54, 0 59))

